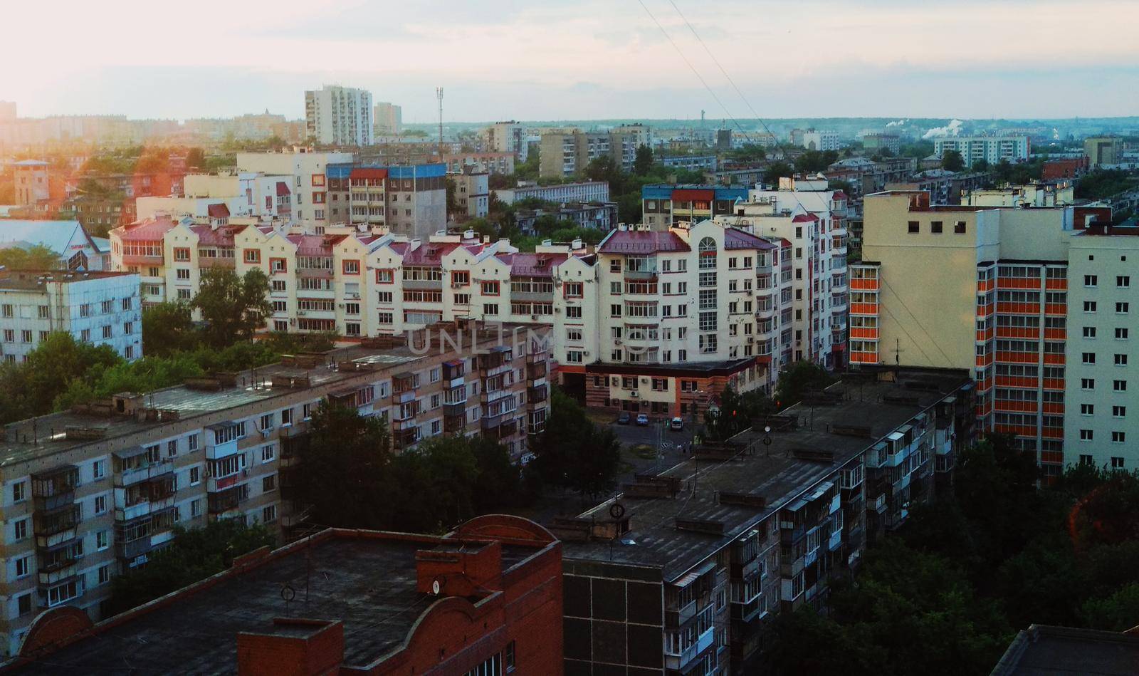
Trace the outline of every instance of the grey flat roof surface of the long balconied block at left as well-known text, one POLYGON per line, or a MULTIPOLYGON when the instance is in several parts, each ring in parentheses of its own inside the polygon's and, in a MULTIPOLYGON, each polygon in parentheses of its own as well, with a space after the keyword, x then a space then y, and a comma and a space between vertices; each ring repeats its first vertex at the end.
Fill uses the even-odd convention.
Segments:
MULTIPOLYGON (((380 367, 408 364, 421 358, 413 355, 407 347, 384 350, 344 348, 336 350, 334 353, 337 361, 361 360, 379 365, 380 367)), ((147 392, 144 394, 144 401, 149 408, 177 410, 179 418, 186 420, 196 415, 212 414, 227 408, 236 408, 254 401, 272 399, 273 397, 281 397, 297 391, 288 388, 270 386, 273 376, 309 376, 311 385, 319 386, 351 377, 359 377, 360 375, 361 372, 336 372, 326 366, 304 369, 295 366, 271 364, 257 369, 239 373, 237 375, 237 388, 208 391, 191 390, 185 385, 177 385, 147 392), (257 383, 264 382, 264 386, 253 386, 254 374, 257 383)), ((57 453, 74 446, 90 443, 90 441, 67 439, 64 431, 69 425, 106 427, 106 438, 112 439, 124 434, 133 434, 150 427, 159 427, 164 424, 169 423, 139 422, 128 416, 107 417, 72 412, 56 413, 11 423, 6 427, 6 437, 0 439, 0 466, 57 453), (32 429, 33 421, 34 430, 32 429)))

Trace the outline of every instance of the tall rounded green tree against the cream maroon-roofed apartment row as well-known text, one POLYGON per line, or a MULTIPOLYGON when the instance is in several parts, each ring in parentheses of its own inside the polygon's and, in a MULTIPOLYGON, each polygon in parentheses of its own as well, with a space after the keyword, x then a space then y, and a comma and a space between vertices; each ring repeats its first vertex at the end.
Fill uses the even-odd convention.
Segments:
POLYGON ((252 340, 273 309, 269 302, 269 277, 260 268, 243 277, 224 268, 205 270, 192 307, 206 323, 203 332, 206 343, 223 347, 233 340, 252 340))

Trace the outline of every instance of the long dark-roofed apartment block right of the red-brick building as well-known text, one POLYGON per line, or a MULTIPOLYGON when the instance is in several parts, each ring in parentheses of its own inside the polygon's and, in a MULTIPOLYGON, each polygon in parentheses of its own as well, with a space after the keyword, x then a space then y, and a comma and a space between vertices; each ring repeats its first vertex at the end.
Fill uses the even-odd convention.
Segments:
POLYGON ((972 386, 962 370, 850 376, 556 519, 566 674, 762 673, 775 617, 825 609, 868 540, 949 484, 972 386))

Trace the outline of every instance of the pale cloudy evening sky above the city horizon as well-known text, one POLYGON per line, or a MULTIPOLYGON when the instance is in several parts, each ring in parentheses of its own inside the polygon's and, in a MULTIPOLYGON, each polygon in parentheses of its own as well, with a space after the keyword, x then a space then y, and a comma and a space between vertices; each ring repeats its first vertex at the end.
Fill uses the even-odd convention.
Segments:
POLYGON ((21 116, 303 117, 304 90, 326 83, 400 104, 404 122, 436 120, 436 87, 459 122, 1139 114, 1134 0, 41 0, 3 14, 0 100, 21 116))

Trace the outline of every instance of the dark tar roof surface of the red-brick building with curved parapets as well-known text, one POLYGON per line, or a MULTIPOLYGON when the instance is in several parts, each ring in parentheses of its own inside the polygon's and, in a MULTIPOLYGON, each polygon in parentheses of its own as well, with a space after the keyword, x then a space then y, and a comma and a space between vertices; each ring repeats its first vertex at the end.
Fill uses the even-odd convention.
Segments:
MULTIPOLYGON (((435 601, 416 591, 416 551, 435 548, 453 549, 454 545, 350 535, 321 539, 73 643, 16 673, 232 674, 237 671, 237 634, 277 633, 272 620, 278 617, 343 621, 344 663, 364 665, 398 648, 435 601), (288 604, 282 597, 286 585, 296 594, 288 604)), ((536 552, 503 545, 503 571, 536 552)))

